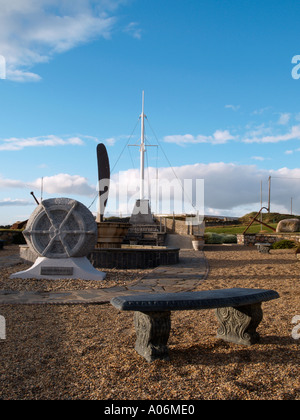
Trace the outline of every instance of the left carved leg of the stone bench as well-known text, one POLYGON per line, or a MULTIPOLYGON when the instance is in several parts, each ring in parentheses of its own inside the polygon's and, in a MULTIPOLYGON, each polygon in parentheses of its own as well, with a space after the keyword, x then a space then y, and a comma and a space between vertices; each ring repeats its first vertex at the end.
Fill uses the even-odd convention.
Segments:
POLYGON ((171 312, 135 312, 135 350, 148 362, 169 360, 171 312))

